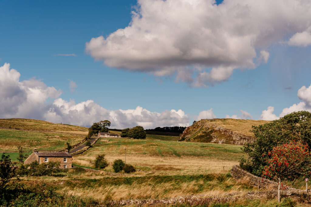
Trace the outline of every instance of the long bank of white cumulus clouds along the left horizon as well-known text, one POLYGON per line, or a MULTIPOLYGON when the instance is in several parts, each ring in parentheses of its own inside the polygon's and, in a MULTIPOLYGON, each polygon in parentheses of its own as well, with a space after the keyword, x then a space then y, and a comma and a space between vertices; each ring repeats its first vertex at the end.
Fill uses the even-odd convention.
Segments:
POLYGON ((189 118, 182 110, 158 113, 140 106, 129 110, 107 110, 93 100, 80 103, 65 101, 58 98, 61 90, 47 87, 37 79, 20 81, 19 78, 20 73, 10 70, 10 64, 0 67, 0 118, 43 119, 80 126, 90 126, 94 122, 108 119, 112 128, 189 125, 189 118))

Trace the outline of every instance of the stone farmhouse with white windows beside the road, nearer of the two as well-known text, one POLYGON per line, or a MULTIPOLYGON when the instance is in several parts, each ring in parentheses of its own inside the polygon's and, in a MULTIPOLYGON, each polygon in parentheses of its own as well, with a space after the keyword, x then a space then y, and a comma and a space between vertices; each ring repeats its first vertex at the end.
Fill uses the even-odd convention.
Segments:
POLYGON ((24 164, 30 164, 34 161, 41 163, 60 162, 59 168, 71 168, 72 156, 68 152, 38 152, 34 149, 32 154, 24 161, 24 164))

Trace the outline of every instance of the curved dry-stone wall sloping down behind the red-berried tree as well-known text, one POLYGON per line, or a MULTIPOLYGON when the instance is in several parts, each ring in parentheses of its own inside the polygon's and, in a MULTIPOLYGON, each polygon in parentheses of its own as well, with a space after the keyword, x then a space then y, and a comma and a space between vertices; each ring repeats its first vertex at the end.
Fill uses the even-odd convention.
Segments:
MULTIPOLYGON (((231 169, 231 175, 235 181, 243 181, 247 182, 249 185, 255 186, 259 188, 265 188, 268 190, 277 189, 278 183, 268 180, 266 178, 260 178, 255 176, 247 171, 239 168, 237 165, 234 165, 231 169)), ((301 191, 292 187, 285 187, 286 190, 290 191, 301 191)))

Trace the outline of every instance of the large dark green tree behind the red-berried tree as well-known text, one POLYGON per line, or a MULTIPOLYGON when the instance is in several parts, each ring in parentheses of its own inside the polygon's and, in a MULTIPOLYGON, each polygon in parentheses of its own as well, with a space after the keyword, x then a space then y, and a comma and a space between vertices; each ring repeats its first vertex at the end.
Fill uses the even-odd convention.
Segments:
POLYGON ((293 112, 281 119, 252 126, 256 140, 244 146, 243 151, 248 155, 248 160, 241 159, 240 166, 257 176, 265 166, 265 159, 273 147, 296 140, 311 147, 311 113, 308 111, 293 112))

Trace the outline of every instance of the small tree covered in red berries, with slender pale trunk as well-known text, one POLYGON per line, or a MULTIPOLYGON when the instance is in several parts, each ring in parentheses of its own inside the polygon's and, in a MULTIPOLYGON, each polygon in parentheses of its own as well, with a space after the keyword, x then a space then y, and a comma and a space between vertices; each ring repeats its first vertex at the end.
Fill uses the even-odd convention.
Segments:
POLYGON ((267 165, 262 171, 262 177, 272 178, 279 183, 277 195, 280 202, 280 188, 283 180, 293 180, 299 176, 311 174, 311 154, 307 144, 293 141, 273 147, 267 155, 268 158, 265 160, 267 165))

